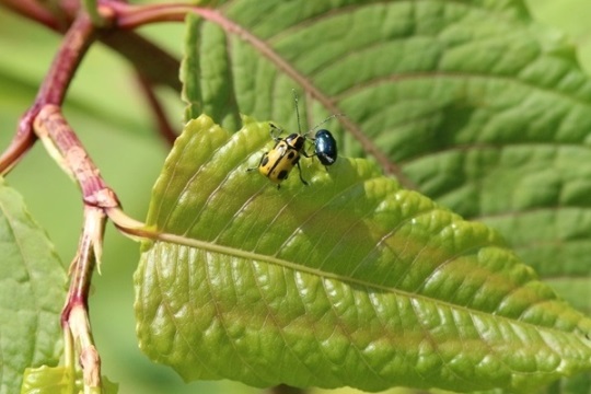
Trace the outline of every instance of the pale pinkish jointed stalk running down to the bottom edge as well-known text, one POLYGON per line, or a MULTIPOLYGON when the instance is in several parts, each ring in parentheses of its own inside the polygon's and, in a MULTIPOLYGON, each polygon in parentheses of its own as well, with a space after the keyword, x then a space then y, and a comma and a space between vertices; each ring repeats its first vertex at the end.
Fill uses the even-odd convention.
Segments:
MULTIPOLYGON (((120 205, 57 105, 47 104, 38 112, 34 131, 82 190, 84 225, 70 267, 70 289, 61 313, 61 325, 65 333, 72 336, 74 346, 67 347, 67 351, 78 352, 84 391, 90 393, 91 389, 101 386, 101 358, 94 346, 89 317, 90 286, 94 267, 100 270, 107 220, 105 211, 120 205)), ((66 360, 73 358, 72 354, 66 355, 66 360)))

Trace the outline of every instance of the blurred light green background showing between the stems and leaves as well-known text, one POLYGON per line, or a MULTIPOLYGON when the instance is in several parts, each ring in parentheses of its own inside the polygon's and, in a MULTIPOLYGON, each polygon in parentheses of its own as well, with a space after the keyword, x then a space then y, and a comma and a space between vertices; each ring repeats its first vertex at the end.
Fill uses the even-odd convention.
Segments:
MULTIPOLYGON (((535 20, 568 34, 582 67, 591 71, 589 0, 529 0, 535 20)), ((141 30, 170 51, 181 55, 182 24, 141 30)), ((60 36, 0 9, 0 146, 5 147, 19 116, 32 103, 60 43, 60 36)), ((158 136, 138 94, 129 67, 97 45, 84 59, 68 95, 65 113, 106 182, 117 192, 126 212, 144 218, 151 186, 169 147, 158 136), (121 160, 124 159, 124 160, 121 160)), ((181 129, 183 105, 173 92, 166 96, 171 119, 181 129)), ((82 202, 76 185, 37 144, 8 177, 47 230, 63 264, 69 265, 78 243, 82 202)), ((104 373, 120 383, 121 394, 259 393, 233 382, 185 384, 170 368, 150 362, 137 347, 134 322, 132 274, 138 245, 109 225, 102 276, 93 280, 91 318, 104 373)), ((316 391, 321 393, 323 391, 316 391)), ((392 391, 392 393, 398 391, 392 391)), ((354 390, 332 393, 358 393, 354 390)))

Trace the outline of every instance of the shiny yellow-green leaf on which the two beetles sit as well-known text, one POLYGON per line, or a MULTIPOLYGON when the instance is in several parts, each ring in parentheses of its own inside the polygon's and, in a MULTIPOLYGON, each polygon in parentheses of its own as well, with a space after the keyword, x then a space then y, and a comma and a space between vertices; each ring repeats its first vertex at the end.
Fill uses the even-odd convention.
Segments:
MULTIPOLYGON (((154 186, 140 346, 185 380, 530 392, 591 369, 591 320, 466 222, 340 158, 310 186, 247 173, 268 124, 187 124, 154 186)), ((296 171, 296 170, 294 170, 296 171)))

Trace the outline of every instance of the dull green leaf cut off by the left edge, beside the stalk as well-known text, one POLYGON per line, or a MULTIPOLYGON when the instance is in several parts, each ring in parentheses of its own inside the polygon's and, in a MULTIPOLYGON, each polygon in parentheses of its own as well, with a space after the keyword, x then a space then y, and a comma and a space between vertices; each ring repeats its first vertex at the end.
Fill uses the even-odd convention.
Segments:
POLYGON ((30 366, 57 363, 66 271, 22 197, 0 179, 0 393, 30 366))

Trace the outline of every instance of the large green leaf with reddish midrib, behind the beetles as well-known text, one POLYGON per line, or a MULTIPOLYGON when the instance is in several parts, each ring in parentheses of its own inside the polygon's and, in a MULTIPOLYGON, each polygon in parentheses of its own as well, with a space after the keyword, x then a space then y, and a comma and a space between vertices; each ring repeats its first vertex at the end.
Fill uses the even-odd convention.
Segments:
POLYGON ((220 13, 189 19, 187 119, 296 125, 297 89, 308 125, 346 114, 345 154, 381 152, 405 187, 499 230, 591 313, 591 82, 522 1, 236 0, 220 13))

